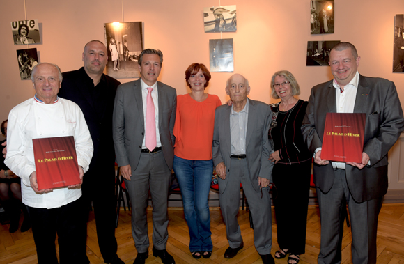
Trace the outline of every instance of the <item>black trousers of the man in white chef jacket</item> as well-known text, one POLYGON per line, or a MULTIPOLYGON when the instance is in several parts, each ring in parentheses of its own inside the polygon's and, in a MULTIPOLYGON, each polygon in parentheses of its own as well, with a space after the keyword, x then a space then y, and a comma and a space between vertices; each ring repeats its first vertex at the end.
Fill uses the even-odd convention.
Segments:
POLYGON ((59 259, 65 263, 90 263, 86 255, 86 215, 83 199, 60 208, 27 206, 38 263, 58 263, 55 239, 58 234, 59 259))

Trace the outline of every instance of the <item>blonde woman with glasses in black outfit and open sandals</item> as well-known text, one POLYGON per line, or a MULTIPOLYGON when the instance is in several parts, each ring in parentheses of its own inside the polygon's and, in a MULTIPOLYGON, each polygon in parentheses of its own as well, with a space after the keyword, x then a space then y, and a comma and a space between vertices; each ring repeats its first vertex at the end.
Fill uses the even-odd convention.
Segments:
POLYGON ((307 207, 309 205, 311 153, 303 141, 300 127, 308 102, 295 98, 300 94, 293 75, 281 70, 271 81, 272 98, 281 99, 271 104, 272 123, 268 137, 274 143, 272 180, 277 187, 274 199, 279 250, 275 258, 285 258, 297 264, 306 245, 307 207))

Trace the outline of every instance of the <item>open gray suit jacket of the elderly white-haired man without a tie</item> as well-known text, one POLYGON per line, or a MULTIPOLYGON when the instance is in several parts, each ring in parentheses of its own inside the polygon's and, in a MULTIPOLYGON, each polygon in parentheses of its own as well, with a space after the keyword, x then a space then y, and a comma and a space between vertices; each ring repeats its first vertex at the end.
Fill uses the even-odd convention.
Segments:
MULTIPOLYGON (((220 162, 226 165, 225 187, 219 189, 222 194, 226 189, 228 176, 231 176, 231 135, 230 135, 231 107, 224 104, 217 107, 215 113, 215 129, 213 132, 212 157, 215 166, 220 162)), ((246 155, 251 178, 251 185, 256 192, 260 191, 258 177, 271 179, 272 166, 270 153, 272 148, 268 139, 272 112, 268 104, 249 100, 249 113, 246 135, 246 155)))

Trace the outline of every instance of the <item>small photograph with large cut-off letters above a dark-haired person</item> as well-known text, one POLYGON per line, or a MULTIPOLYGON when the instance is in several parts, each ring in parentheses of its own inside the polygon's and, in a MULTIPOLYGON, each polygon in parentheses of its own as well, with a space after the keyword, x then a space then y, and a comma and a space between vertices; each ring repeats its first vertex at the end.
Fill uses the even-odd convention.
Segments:
POLYGON ((38 20, 20 20, 11 22, 14 45, 40 43, 38 20))

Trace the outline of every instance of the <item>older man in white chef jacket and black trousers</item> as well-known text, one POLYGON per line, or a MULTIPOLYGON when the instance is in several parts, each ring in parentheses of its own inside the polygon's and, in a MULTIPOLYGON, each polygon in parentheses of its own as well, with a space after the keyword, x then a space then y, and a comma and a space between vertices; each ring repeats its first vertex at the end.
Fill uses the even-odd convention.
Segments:
POLYGON ((81 184, 38 191, 32 139, 73 136, 81 183, 93 156, 93 141, 81 109, 57 95, 62 82, 59 67, 39 63, 31 79, 36 95, 8 116, 5 163, 22 178, 22 202, 31 217, 38 263, 58 263, 56 233, 60 263, 89 263, 81 184))

